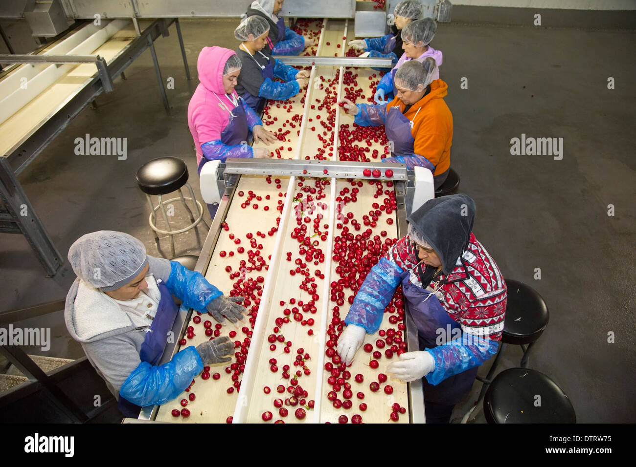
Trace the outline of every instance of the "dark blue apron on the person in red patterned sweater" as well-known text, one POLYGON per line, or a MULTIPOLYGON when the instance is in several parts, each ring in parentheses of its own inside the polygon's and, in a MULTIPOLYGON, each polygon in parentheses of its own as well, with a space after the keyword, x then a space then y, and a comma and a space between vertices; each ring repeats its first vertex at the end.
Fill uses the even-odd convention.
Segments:
MULTIPOLYGON (((451 340, 453 330, 459 329, 460 325, 453 320, 446 310, 443 308, 438 298, 433 295, 427 301, 424 299, 431 294, 422 287, 411 284, 409 280, 409 271, 401 274, 402 278, 402 294, 408 305, 415 325, 417 325, 417 333, 420 339, 420 350, 431 349, 437 346, 436 340, 439 339, 438 330, 443 330, 441 336, 446 336, 444 342, 451 340), (451 333, 448 333, 450 328, 451 333)), ((446 378, 437 386, 429 384, 425 377, 422 378, 422 386, 424 387, 424 401, 433 402, 444 405, 454 405, 466 395, 473 387, 473 382, 477 376, 479 367, 468 369, 462 373, 446 378)))

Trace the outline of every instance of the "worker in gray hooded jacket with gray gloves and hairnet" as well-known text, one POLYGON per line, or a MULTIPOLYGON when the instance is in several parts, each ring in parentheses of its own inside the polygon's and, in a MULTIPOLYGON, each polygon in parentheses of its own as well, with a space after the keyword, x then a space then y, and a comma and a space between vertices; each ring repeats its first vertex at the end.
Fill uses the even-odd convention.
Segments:
POLYGON ((172 295, 219 322, 243 318, 242 297, 224 297, 202 274, 147 255, 141 241, 122 232, 81 236, 68 258, 78 278, 66 297, 66 327, 125 416, 174 399, 204 365, 231 360, 233 342, 219 337, 157 365, 178 312, 172 295))

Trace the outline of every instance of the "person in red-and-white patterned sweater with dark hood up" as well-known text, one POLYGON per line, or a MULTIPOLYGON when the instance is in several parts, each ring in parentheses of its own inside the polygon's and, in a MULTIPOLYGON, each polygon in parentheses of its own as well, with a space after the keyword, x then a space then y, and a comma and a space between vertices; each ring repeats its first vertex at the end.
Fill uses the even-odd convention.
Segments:
POLYGON ((411 213, 408 235, 366 276, 338 337, 349 365, 401 284, 420 349, 402 353, 387 371, 405 382, 425 377, 427 423, 450 421, 481 363, 497 353, 504 328, 506 282, 472 233, 474 213, 466 194, 429 200, 411 213))

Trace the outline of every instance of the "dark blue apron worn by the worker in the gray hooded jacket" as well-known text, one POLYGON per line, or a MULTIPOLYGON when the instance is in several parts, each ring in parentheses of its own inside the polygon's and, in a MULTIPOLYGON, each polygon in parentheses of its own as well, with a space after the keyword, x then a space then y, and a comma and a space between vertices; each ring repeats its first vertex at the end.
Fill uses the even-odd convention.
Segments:
MULTIPOLYGON (((139 351, 139 358, 142 362, 147 362, 153 367, 159 363, 163 355, 163 349, 168 339, 168 332, 172 330, 174 320, 177 317, 179 307, 172 299, 172 294, 165 286, 163 282, 157 282, 159 291, 161 292, 161 299, 157 307, 155 319, 153 320, 150 330, 146 332, 146 338, 141 344, 141 350, 139 351)), ((125 398, 119 398, 117 403, 120 411, 126 417, 136 418, 139 416, 141 407, 129 402, 125 398)))

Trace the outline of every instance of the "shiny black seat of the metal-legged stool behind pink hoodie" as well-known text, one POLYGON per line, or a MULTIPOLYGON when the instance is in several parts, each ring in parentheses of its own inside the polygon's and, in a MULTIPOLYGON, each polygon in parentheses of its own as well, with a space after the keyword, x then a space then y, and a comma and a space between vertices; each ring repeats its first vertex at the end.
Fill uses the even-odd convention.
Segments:
POLYGON ((172 193, 188 182, 188 167, 179 158, 153 159, 137 170, 136 178, 139 188, 144 193, 172 193))

